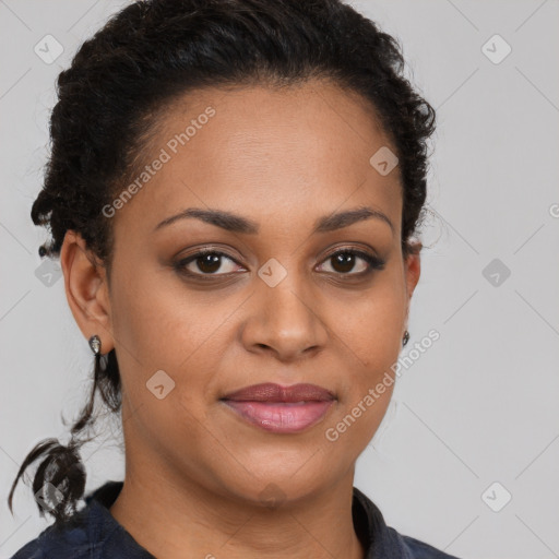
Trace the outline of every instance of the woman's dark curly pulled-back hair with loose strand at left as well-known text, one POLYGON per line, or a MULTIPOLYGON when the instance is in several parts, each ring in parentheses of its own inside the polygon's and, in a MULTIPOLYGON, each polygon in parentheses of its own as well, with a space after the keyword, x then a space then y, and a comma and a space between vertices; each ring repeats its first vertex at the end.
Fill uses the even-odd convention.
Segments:
MULTIPOLYGON (((34 224, 51 233, 39 254, 60 255, 71 229, 110 272, 112 228, 102 210, 134 175, 138 154, 175 98, 201 87, 287 86, 317 78, 370 102, 395 147, 403 193, 401 242, 407 257, 418 250, 409 238, 423 217, 435 110, 404 69, 399 43, 342 0, 145 0, 127 5, 58 76, 50 158, 31 211, 34 224)), ((8 498, 10 510, 19 479, 43 456, 34 493, 43 492, 56 523, 75 512, 85 486, 78 450, 86 439, 80 433, 94 421, 97 391, 110 411, 120 409, 115 349, 95 357, 91 395, 70 443, 46 439, 25 457, 8 498)), ((44 507, 38 509, 44 515, 44 507)))

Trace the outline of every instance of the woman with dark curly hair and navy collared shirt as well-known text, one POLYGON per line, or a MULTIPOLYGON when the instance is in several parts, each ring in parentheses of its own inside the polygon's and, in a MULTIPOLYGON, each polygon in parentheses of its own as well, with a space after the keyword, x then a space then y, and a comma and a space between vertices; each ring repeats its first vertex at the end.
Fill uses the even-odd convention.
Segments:
POLYGON ((58 93, 32 217, 94 385, 17 473, 10 507, 39 461, 55 524, 14 557, 451 557, 353 487, 409 338, 435 128, 395 40, 337 0, 139 1, 58 93), (126 478, 78 510, 97 390, 126 478))

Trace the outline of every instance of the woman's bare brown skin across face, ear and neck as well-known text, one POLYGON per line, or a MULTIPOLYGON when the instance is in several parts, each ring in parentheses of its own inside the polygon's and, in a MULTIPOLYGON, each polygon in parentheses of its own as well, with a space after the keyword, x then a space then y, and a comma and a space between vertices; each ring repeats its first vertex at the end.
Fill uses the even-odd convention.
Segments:
POLYGON ((102 338, 102 354, 116 347, 120 367, 126 480, 110 512, 166 559, 360 559, 355 462, 394 385, 336 441, 325 430, 393 376, 419 280, 419 255, 405 260, 401 250, 399 168, 381 176, 369 163, 380 147, 395 148, 366 99, 311 81, 187 95, 168 106, 144 164, 209 105, 216 115, 111 218, 109 276, 74 231, 61 251, 80 329, 102 338), (394 230, 368 218, 311 233, 318 218, 359 206, 382 212, 394 230), (195 218, 154 231, 188 207, 241 215, 259 233, 195 218), (207 246, 234 259, 222 259, 221 276, 189 280, 173 267, 207 246), (379 255, 384 269, 355 278, 369 270, 360 258, 336 267, 331 252, 350 248, 379 255), (258 275, 271 258, 287 272, 275 287, 258 275), (353 274, 345 283, 344 273, 353 274), (162 400, 146 388, 157 370, 175 381, 162 400), (307 430, 273 433, 219 402, 260 382, 310 382, 336 401, 307 430), (275 507, 262 501, 269 484, 275 507))

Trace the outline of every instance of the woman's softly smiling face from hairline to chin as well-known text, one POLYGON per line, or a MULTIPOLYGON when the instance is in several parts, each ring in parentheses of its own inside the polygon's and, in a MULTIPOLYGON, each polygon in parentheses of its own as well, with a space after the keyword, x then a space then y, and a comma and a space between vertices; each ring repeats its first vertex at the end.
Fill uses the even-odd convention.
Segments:
POLYGON ((107 331, 90 329, 103 353, 116 347, 130 472, 253 502, 353 474, 390 402, 393 384, 376 386, 394 378, 419 276, 401 250, 399 167, 377 160, 386 148, 365 100, 331 84, 169 105, 133 195, 106 210, 107 331), (165 223, 187 210, 198 217, 165 223), (311 383, 334 400, 222 400, 260 383, 311 383))

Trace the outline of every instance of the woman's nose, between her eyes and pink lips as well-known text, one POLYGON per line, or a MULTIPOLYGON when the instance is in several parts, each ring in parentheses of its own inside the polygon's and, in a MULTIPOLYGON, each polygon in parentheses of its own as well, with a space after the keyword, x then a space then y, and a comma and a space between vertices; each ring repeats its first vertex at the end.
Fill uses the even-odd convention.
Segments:
POLYGON ((320 352, 328 341, 328 328, 317 308, 311 288, 304 289, 295 276, 275 287, 257 278, 250 310, 242 324, 241 341, 248 352, 271 354, 280 361, 293 361, 320 352))

